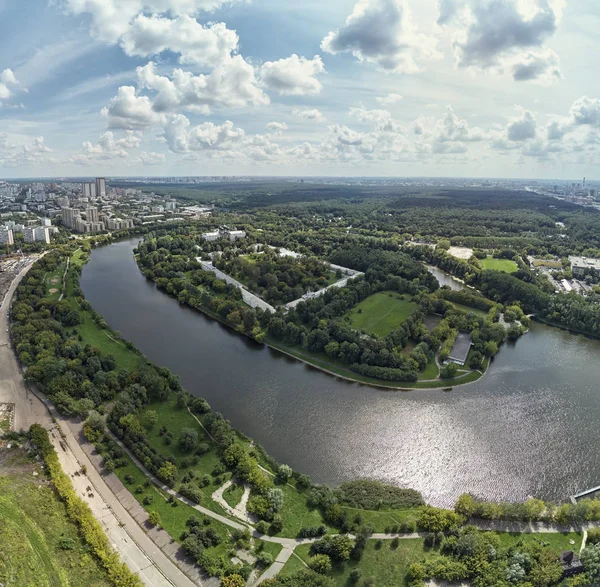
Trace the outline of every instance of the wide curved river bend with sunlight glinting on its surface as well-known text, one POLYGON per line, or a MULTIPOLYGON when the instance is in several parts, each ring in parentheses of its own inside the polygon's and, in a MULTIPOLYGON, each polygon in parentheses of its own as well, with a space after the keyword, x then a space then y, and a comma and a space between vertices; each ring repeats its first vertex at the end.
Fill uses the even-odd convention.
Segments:
POLYGON ((239 336, 158 291, 130 240, 95 250, 86 298, 279 462, 336 484, 371 477, 434 505, 564 500, 600 485, 600 342, 533 324, 486 376, 452 392, 338 380, 239 336))

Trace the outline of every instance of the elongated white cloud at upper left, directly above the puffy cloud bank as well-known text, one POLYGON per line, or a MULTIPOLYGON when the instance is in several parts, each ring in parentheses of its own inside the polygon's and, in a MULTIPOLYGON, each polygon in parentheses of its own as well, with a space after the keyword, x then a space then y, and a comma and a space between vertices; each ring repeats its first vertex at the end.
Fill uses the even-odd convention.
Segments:
POLYGON ((120 43, 130 56, 149 57, 168 50, 179 53, 181 63, 215 67, 237 49, 238 36, 222 22, 203 26, 187 14, 175 19, 140 14, 120 43))

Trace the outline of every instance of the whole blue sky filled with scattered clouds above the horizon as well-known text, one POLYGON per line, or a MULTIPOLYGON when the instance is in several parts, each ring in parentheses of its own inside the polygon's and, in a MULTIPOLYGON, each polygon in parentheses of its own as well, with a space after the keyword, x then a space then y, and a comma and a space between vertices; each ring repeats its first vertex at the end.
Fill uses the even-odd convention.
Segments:
POLYGON ((0 0, 0 177, 600 179, 597 0, 0 0))

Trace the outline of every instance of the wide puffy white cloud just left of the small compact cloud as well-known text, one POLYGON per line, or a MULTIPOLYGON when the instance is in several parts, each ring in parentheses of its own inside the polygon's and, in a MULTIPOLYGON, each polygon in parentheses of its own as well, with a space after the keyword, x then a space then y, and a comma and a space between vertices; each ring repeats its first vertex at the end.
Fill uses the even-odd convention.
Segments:
POLYGON ((208 114, 212 107, 269 104, 269 97, 258 87, 254 68, 240 55, 228 58, 210 74, 175 69, 169 78, 158 75, 150 62, 137 68, 137 77, 140 88, 157 92, 153 103, 156 112, 184 108, 208 114))

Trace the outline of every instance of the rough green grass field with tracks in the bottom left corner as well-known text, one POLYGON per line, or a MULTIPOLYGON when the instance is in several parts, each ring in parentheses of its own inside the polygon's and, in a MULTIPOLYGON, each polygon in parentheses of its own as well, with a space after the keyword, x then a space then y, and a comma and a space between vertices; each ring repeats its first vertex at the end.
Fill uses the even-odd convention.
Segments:
POLYGON ((0 579, 7 586, 111 584, 43 470, 21 449, 0 452, 0 579))

